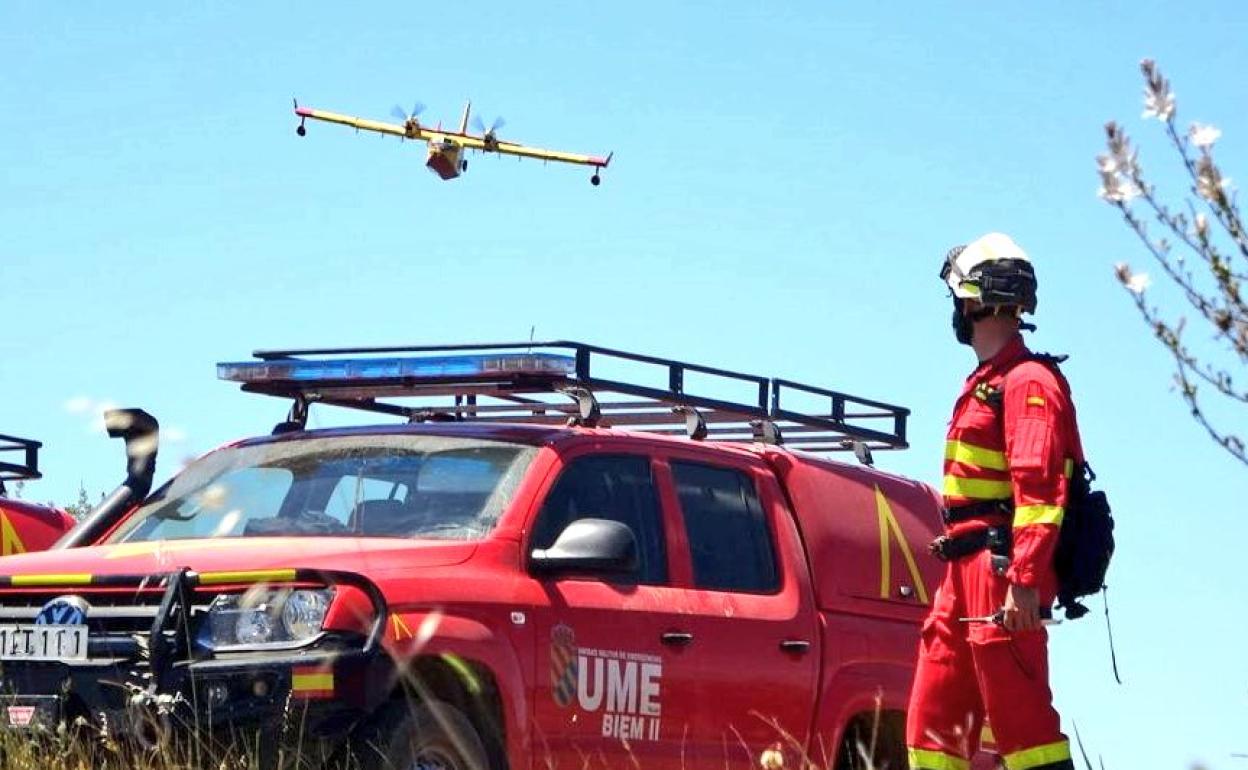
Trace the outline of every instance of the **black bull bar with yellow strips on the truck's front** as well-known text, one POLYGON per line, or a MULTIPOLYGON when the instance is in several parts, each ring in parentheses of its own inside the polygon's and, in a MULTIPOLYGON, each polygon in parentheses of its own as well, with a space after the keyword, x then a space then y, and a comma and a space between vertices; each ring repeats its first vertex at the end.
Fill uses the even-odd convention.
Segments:
MULTIPOLYGON (((281 709, 286 704, 286 698, 281 693, 275 693, 263 704, 217 703, 206 704, 202 700, 203 688, 196 688, 196 683, 227 681, 230 676, 255 675, 257 673, 275 674, 276 679, 285 681, 287 696, 293 686, 293 670, 300 666, 328 666, 329 670, 338 671, 339 680, 349 680, 349 688, 342 688, 334 693, 332 700, 308 701, 308 708, 314 708, 318 714, 326 715, 324 724, 329 725, 324 733, 326 738, 334 738, 331 734, 344 731, 356 719, 366 716, 379 699, 388 693, 384 683, 393 681, 393 665, 389 656, 379 654, 382 650, 382 638, 386 631, 388 619, 388 605, 381 589, 371 579, 353 572, 334 569, 256 569, 256 570, 227 570, 227 572, 195 572, 188 568, 168 573, 157 574, 31 574, 31 575, 0 575, 0 589, 29 589, 32 592, 64 590, 72 593, 90 589, 117 589, 132 588, 136 593, 162 588, 162 594, 157 604, 151 628, 146 634, 146 654, 144 668, 145 690, 155 696, 182 695, 185 704, 195 714, 195 724, 202 725, 200 718, 207 711, 218 714, 218 724, 228 724, 238 728, 253 721, 257 726, 263 726, 273 718, 273 708, 281 709), (338 645, 332 649, 317 648, 312 643, 302 646, 290 646, 283 649, 256 649, 235 648, 223 654, 197 655, 192 646, 195 629, 191 628, 193 595, 198 589, 212 587, 256 587, 256 585, 343 585, 358 589, 367 597, 372 605, 372 623, 364 635, 362 645, 357 641, 349 646, 338 645), (198 695, 196 689, 200 690, 198 695), (349 695, 344 695, 349 693, 349 695), (338 695, 344 695, 339 698, 338 695)), ((7 590, 5 593, 9 593, 7 590)), ((232 592, 222 592, 232 593, 232 592)), ((2 600, 0 600, 2 602, 2 600)), ((203 621, 207 621, 205 618, 203 621)), ((139 636, 140 634, 134 634, 139 636)), ((90 644, 89 644, 90 649, 90 644)), ((57 660, 30 660, 10 659, 4 661, 4 693, 0 699, 9 704, 21 704, 25 701, 49 703, 51 709, 49 716, 55 714, 55 719, 61 720, 66 714, 61 710, 64 694, 55 695, 47 693, 46 683, 59 678, 61 681, 81 684, 81 691, 86 693, 85 709, 89 716, 99 714, 117 713, 116 703, 106 705, 106 698, 101 696, 102 680, 109 674, 115 674, 121 669, 131 669, 134 661, 117 664, 92 665, 91 659, 86 661, 57 660), (110 669, 111 666, 111 669, 110 669), (24 670, 29 669, 29 670, 24 670), (41 684, 40 684, 41 683, 41 684)), ((152 700, 155 703, 156 700, 152 700)), ((134 699, 129 699, 126 709, 132 709, 134 699)), ((166 701, 167 703, 167 701, 166 701)), ((44 706, 39 706, 42 709, 44 706)), ((0 714, 2 718, 2 714, 0 714)), ((167 724, 167 718, 163 719, 167 724)), ((211 720, 210 720, 211 721, 211 720)), ((14 726, 11 710, 9 725, 14 726)))

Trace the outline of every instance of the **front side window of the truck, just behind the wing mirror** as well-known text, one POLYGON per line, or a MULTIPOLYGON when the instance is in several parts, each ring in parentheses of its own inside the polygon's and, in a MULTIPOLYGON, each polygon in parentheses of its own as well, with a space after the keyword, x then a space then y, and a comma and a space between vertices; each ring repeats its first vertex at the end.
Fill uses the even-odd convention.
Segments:
POLYGON ((645 457, 593 454, 564 468, 542 504, 530 548, 549 548, 577 519, 612 519, 636 538, 638 583, 668 582, 659 495, 645 457))

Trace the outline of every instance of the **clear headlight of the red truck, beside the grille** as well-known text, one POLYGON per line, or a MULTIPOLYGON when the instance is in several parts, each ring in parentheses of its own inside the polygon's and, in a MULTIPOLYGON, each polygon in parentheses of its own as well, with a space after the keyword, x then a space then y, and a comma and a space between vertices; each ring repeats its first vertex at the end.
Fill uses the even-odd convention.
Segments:
POLYGON ((332 588, 221 594, 208 605, 200 643, 217 649, 307 641, 321 633, 332 600, 332 588))

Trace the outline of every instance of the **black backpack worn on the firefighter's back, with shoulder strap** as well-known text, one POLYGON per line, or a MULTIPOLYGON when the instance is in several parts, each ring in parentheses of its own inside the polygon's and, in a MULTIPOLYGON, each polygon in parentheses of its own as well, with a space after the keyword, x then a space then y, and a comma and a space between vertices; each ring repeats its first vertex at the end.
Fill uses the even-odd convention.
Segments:
MULTIPOLYGON (((1057 364, 1066 356, 1032 353, 1023 361, 1037 361, 1047 366, 1062 386, 1067 398, 1071 386, 1057 364)), ((1008 373, 1006 374, 1008 377, 1008 373)), ((997 399, 1000 404, 1000 401, 997 399)), ((1001 409, 997 414, 1001 416, 1001 409)), ((1082 447, 1080 448, 1082 453, 1082 447)), ((1075 620, 1088 613, 1080 599, 1106 588, 1104 575, 1113 557, 1113 517, 1104 492, 1093 492, 1096 473, 1087 462, 1075 468, 1066 494, 1066 514, 1057 535, 1053 568, 1057 573, 1057 605, 1066 610, 1066 618, 1075 620)))

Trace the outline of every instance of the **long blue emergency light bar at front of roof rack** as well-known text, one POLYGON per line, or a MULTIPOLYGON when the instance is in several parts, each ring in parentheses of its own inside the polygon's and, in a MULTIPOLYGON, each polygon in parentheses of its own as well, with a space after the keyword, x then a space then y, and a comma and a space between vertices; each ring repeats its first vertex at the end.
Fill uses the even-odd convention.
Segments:
POLYGON ((217 364, 217 378, 243 384, 313 382, 446 382, 448 378, 493 379, 533 376, 570 377, 577 371, 572 356, 507 353, 483 356, 428 356, 391 358, 337 358, 241 361, 217 364))

